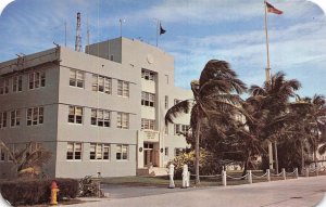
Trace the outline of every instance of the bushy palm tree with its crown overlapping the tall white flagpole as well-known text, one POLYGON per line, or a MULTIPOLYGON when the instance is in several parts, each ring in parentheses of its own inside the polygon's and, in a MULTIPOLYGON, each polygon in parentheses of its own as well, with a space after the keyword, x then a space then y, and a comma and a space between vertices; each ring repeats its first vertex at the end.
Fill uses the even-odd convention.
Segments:
MULTIPOLYGON (((301 85, 298 80, 286 80, 285 74, 278 72, 272 76, 271 81, 265 81, 263 87, 251 86, 251 102, 255 103, 256 116, 261 116, 259 130, 255 131, 261 140, 269 140, 275 146, 275 168, 278 172, 278 157, 276 142, 283 137, 286 122, 290 119, 287 116, 287 106, 290 96, 294 96, 301 85)), ((256 117, 258 118, 258 117, 256 117)))

